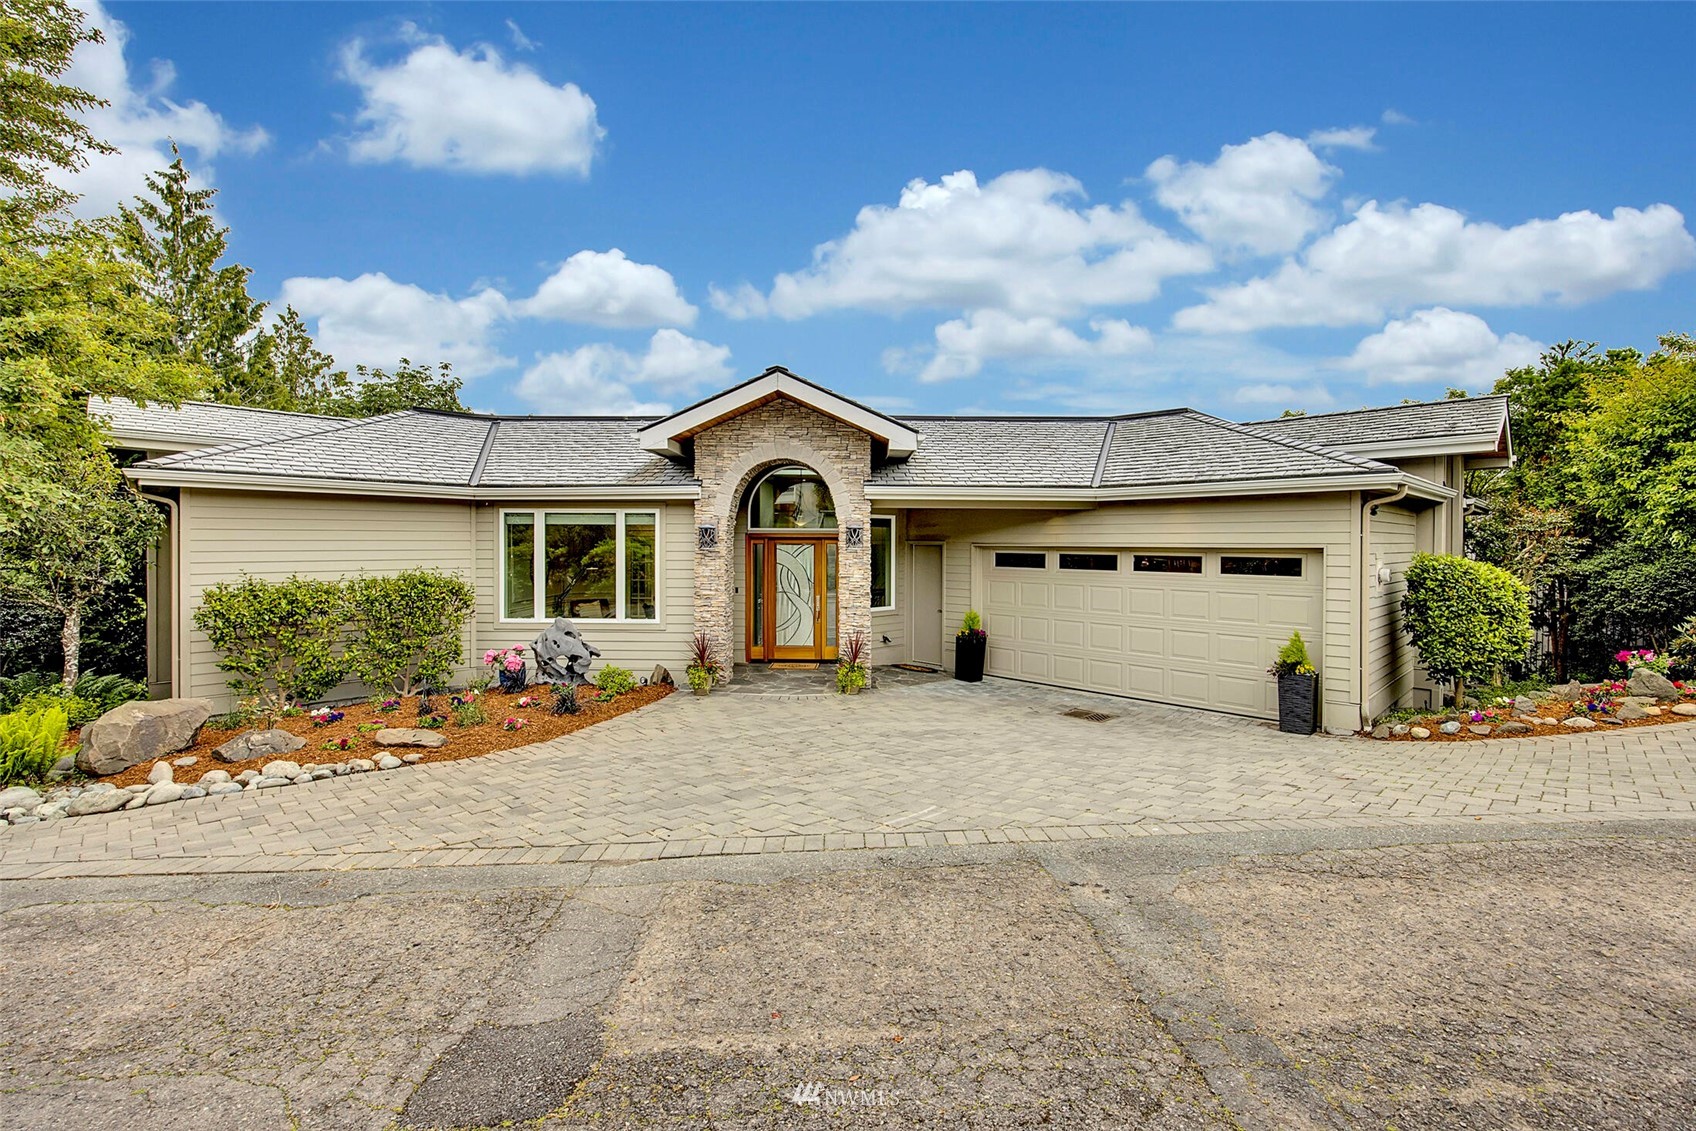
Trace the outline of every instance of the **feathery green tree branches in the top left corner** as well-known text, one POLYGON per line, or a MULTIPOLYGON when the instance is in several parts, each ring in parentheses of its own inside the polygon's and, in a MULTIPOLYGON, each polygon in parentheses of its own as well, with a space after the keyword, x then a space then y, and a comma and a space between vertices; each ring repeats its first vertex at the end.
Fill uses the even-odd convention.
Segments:
POLYGON ((34 242, 76 195, 53 183, 112 153, 80 115, 107 102, 58 81, 100 31, 64 0, 0 0, 0 237, 34 242))

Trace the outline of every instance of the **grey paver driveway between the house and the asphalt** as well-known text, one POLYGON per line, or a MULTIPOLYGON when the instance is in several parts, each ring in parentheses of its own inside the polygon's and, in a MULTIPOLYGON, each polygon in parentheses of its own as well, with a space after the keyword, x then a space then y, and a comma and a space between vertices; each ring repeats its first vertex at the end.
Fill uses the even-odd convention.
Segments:
POLYGON ((551 743, 0 833, 0 878, 641 860, 1286 822, 1696 817, 1696 724, 1370 743, 1007 682, 670 699, 551 743), (1087 707, 1116 716, 1062 716, 1087 707))

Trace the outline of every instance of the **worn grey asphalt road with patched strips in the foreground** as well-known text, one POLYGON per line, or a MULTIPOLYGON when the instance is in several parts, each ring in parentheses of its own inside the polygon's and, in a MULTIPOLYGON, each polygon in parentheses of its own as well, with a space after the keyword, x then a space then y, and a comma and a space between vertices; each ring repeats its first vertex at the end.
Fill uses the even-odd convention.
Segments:
POLYGON ((1693 878, 1586 822, 8 882, 0 1128, 1688 1128, 1693 878))

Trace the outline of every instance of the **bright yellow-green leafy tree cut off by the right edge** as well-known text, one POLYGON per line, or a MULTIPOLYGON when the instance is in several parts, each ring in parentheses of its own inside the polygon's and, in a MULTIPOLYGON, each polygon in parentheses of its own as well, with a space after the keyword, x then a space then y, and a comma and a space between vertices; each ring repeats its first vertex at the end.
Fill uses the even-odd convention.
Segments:
POLYGON ((1603 521, 1647 546, 1696 546, 1696 349, 1662 348, 1589 383, 1591 410, 1572 424, 1576 487, 1603 521))

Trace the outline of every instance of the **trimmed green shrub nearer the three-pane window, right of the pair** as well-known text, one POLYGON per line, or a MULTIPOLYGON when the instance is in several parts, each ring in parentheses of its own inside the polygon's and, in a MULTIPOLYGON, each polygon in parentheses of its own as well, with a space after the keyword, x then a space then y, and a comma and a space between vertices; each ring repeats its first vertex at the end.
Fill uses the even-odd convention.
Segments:
POLYGON ((349 671, 397 695, 446 683, 465 655, 465 619, 477 600, 470 585, 451 573, 405 570, 358 577, 346 588, 349 671))

